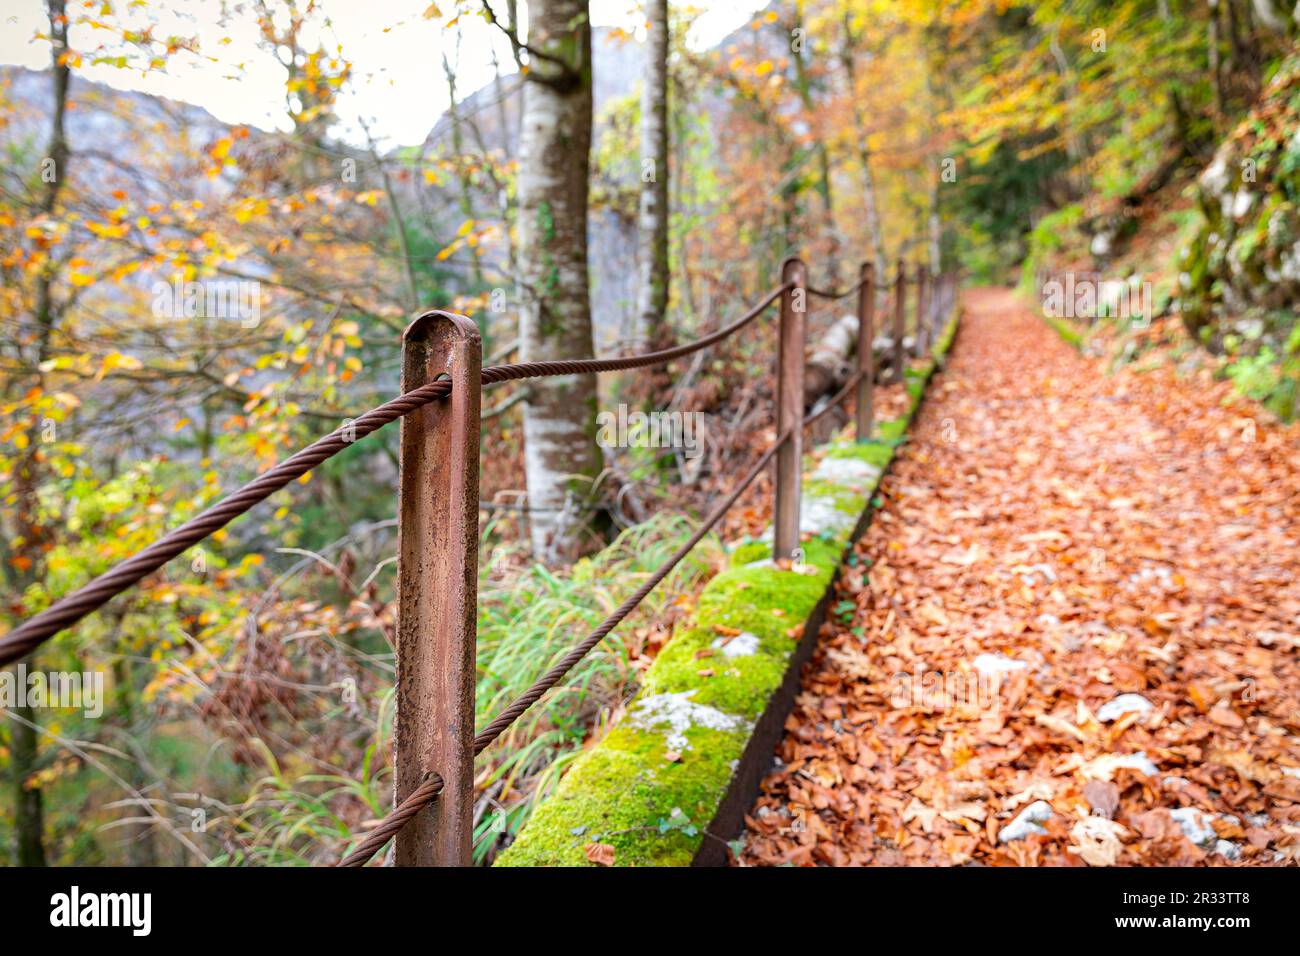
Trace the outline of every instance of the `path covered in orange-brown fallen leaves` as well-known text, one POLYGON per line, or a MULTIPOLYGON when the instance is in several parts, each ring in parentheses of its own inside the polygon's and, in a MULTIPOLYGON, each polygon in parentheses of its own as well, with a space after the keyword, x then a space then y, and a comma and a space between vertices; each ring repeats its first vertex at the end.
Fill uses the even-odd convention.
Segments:
POLYGON ((1295 429, 965 306, 741 862, 1295 862, 1295 429))

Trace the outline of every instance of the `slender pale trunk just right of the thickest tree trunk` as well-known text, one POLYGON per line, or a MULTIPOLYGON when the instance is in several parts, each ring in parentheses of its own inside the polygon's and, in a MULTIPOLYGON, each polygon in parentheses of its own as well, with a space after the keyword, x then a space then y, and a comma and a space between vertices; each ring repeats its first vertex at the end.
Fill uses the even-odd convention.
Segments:
POLYGON ((637 336, 659 342, 668 308, 668 0, 646 0, 637 217, 637 336))

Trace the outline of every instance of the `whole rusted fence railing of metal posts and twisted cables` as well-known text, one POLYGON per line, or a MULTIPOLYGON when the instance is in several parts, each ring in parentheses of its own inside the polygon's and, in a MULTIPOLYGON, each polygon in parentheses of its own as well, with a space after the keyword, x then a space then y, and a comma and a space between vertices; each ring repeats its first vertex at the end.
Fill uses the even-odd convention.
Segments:
POLYGON ((473 321, 425 312, 403 334, 403 394, 372 408, 291 455, 274 468, 60 598, 0 637, 0 665, 21 659, 75 624, 187 548, 252 509, 385 424, 402 420, 398 506, 396 722, 394 810, 342 861, 361 866, 396 838, 398 865, 468 865, 473 834, 473 762, 507 727, 555 687, 681 562, 775 460, 774 557, 800 545, 803 428, 852 392, 858 441, 874 429, 876 284, 893 293, 893 330, 885 342, 890 381, 905 380, 907 352, 923 355, 956 304, 956 276, 918 265, 909 278, 900 260, 893 281, 863 264, 849 289, 807 285, 797 258, 781 264, 780 284, 728 325, 693 342, 616 359, 538 362, 481 368, 482 343, 473 321), (916 289, 907 336, 907 287, 916 289), (807 298, 845 299, 857 293, 855 368, 819 411, 803 415, 807 298), (780 303, 776 347, 776 441, 748 473, 712 503, 696 532, 598 627, 486 727, 474 734, 474 645, 478 583, 478 428, 485 386, 523 378, 612 372, 662 365, 715 345, 780 303))

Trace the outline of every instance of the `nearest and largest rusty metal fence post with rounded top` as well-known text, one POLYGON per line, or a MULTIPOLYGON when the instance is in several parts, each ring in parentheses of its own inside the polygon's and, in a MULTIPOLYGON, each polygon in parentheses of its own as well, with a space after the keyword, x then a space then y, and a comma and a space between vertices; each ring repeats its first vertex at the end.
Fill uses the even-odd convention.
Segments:
POLYGON ((398 499, 396 803, 429 773, 442 792, 398 832, 398 866, 468 866, 473 836, 482 342, 452 312, 402 336, 402 390, 439 377, 451 394, 402 419, 398 499))

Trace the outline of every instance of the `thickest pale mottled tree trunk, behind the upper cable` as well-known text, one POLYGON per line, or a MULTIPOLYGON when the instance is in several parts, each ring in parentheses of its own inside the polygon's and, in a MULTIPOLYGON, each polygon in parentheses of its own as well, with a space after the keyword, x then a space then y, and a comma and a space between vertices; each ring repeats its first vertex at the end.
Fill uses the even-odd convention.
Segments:
MULTIPOLYGON (((590 358, 586 267, 592 146, 592 23, 586 0, 529 0, 529 69, 519 173, 524 362, 590 358)), ((595 376, 537 378, 524 412, 524 467, 534 554, 564 563, 594 533, 595 376)))

